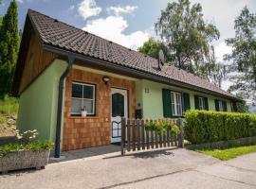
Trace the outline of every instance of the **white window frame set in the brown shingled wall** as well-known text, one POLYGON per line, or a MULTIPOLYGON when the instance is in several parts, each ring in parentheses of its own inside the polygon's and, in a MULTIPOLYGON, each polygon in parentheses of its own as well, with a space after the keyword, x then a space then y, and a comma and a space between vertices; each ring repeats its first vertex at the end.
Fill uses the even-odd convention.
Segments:
MULTIPOLYGON (((95 101, 95 98, 96 98, 95 90, 96 89, 95 88, 96 88, 96 85, 88 84, 88 83, 82 83, 82 82, 72 82, 72 85, 73 84, 82 85, 82 98, 80 98, 80 97, 72 97, 72 91, 71 91, 71 106, 72 106, 72 99, 81 99, 82 100, 82 107, 83 107, 83 100, 91 100, 91 101, 93 101, 93 112, 92 113, 88 113, 87 112, 87 115, 95 115, 96 114, 96 112, 95 112, 95 103, 96 103, 96 101, 95 101), (93 87, 93 99, 91 99, 91 98, 83 98, 83 86, 93 87)), ((71 86, 71 90, 72 90, 72 86, 71 86)), ((71 112, 71 115, 81 115, 81 112, 71 112)))

